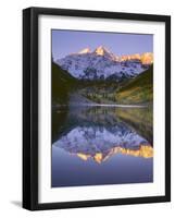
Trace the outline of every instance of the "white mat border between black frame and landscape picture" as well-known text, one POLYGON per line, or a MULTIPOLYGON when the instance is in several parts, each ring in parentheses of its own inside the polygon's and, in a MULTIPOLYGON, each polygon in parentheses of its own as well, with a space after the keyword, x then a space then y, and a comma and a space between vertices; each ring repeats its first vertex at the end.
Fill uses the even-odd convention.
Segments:
POLYGON ((68 16, 39 16, 39 203, 108 199, 165 194, 165 25, 68 16), (153 183, 51 189, 51 28, 153 34, 153 183))

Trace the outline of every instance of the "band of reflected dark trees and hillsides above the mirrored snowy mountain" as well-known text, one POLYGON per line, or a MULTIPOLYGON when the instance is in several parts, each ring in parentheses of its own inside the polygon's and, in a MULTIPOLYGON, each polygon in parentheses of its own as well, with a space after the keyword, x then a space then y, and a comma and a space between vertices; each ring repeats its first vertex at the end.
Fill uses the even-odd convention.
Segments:
POLYGON ((52 111, 52 142, 76 126, 128 126, 152 144, 152 108, 73 107, 52 111))

